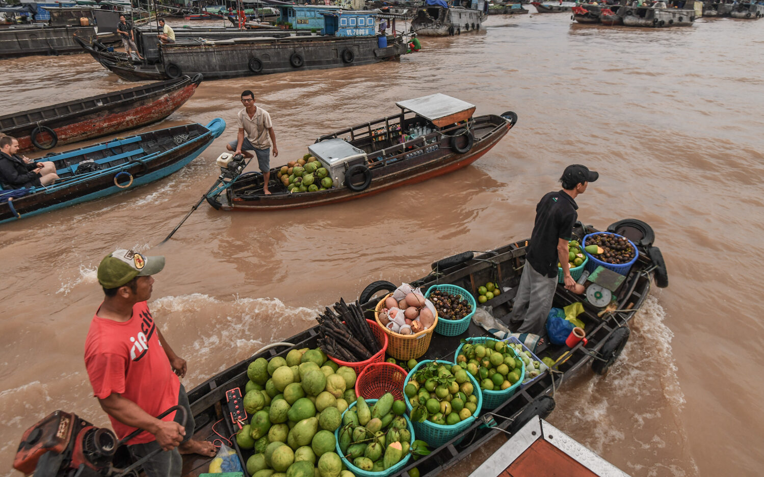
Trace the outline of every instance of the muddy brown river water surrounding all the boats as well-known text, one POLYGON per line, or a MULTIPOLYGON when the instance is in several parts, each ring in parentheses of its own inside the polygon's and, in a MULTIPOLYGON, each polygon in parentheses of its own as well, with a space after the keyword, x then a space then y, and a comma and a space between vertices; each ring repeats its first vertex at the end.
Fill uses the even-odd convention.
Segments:
MULTIPOLYGON (((578 198, 579 218, 600 228, 649 222, 670 287, 653 288, 607 378, 583 372, 566 383, 549 420, 631 475, 760 475, 762 24, 598 28, 533 14, 485 26, 422 38, 419 53, 396 63, 202 83, 162 124, 228 122, 192 164, 130 193, 0 226, 0 475, 18 475, 21 433, 53 410, 108 423, 83 344, 102 299, 95 268, 115 248, 167 257, 150 306, 188 360, 183 382, 193 388, 371 281, 421 277, 434 259, 527 237, 536 202, 575 163, 600 173, 578 198), (217 177, 242 89, 273 118, 275 163, 432 92, 520 120, 479 161, 437 180, 280 213, 204 203, 157 246, 217 177)), ((87 55, 0 65, 3 114, 130 86, 87 55)))

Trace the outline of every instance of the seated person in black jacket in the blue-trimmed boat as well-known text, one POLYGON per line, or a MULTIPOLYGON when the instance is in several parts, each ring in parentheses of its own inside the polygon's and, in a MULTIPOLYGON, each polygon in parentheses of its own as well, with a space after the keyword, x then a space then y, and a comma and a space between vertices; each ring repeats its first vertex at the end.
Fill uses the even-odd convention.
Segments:
POLYGON ((3 189, 47 186, 56 182, 56 165, 50 161, 34 162, 19 156, 18 141, 11 136, 0 138, 0 185, 3 189))

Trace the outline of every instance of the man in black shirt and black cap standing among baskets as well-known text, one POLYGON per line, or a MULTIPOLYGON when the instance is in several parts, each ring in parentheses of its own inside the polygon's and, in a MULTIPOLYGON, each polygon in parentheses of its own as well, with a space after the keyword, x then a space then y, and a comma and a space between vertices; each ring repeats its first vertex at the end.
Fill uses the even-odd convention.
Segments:
POLYGON ((536 206, 536 222, 510 316, 510 327, 516 328, 515 333, 543 333, 557 287, 558 262, 565 288, 578 291, 568 265, 568 242, 578 219, 575 198, 597 177, 599 174, 580 164, 565 167, 560 178, 562 190, 546 194, 536 206))

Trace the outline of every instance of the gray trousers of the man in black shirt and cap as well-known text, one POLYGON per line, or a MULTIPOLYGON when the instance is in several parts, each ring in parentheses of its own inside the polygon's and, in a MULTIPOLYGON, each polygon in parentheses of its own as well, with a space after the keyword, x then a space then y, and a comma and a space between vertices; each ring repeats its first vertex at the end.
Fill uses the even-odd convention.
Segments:
POLYGON ((514 333, 545 334, 546 317, 552 310, 556 288, 557 277, 540 274, 526 261, 510 315, 510 328, 512 323, 522 322, 520 328, 512 330, 514 333))

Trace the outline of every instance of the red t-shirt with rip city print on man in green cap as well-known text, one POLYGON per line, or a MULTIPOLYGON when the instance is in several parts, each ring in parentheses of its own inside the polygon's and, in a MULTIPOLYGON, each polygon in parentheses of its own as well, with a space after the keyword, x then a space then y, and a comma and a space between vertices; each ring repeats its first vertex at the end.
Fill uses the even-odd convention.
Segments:
MULTIPOLYGON (((159 342, 145 301, 135 303, 133 316, 124 323, 93 316, 85 340, 85 367, 100 399, 118 393, 154 417, 178 404, 180 380, 159 342)), ((174 416, 172 412, 163 420, 174 416)), ((120 439, 135 430, 112 416, 109 419, 120 439)), ((142 432, 128 444, 154 440, 154 435, 142 432)))

